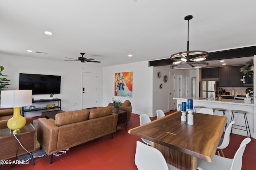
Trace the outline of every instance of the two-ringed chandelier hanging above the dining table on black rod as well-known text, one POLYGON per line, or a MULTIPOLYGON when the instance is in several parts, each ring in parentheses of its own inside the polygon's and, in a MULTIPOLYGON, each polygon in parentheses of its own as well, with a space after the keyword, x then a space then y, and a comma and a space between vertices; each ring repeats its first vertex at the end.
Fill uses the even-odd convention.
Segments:
MULTIPOLYGON (((184 20, 188 21, 189 28, 189 20, 191 20, 193 16, 185 16, 184 20)), ((174 53, 171 55, 170 59, 174 60, 170 65, 170 68, 174 69, 194 69, 194 68, 203 68, 208 66, 208 63, 202 62, 208 56, 208 52, 206 51, 189 51, 189 41, 187 41, 187 51, 182 51, 179 53, 174 53)))

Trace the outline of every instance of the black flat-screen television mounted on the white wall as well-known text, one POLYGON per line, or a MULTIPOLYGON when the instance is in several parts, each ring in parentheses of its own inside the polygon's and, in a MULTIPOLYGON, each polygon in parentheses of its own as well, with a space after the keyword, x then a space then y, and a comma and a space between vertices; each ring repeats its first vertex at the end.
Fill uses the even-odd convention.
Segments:
POLYGON ((60 94, 60 76, 20 73, 20 90, 32 90, 32 94, 60 94))

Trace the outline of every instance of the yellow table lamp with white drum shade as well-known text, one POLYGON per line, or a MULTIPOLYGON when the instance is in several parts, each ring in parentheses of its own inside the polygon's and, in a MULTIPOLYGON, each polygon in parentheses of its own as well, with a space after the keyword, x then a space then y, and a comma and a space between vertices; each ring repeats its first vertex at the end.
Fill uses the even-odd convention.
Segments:
POLYGON ((0 107, 13 107, 13 117, 7 122, 12 131, 20 131, 26 119, 20 114, 20 107, 32 104, 32 90, 2 90, 0 107))

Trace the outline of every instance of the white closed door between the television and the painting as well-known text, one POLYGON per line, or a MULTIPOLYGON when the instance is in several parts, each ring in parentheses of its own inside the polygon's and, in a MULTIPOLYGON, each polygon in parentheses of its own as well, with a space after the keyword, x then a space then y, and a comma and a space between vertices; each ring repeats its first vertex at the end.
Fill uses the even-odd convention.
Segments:
POLYGON ((82 109, 97 107, 98 75, 97 73, 83 72, 82 77, 82 109))

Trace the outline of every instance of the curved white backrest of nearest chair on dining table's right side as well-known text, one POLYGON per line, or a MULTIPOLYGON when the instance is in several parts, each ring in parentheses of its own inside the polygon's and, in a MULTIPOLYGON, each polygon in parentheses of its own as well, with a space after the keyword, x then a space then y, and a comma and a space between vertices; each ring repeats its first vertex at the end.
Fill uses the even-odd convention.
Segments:
POLYGON ((230 170, 241 170, 242 169, 242 158, 243 158, 243 154, 244 154, 244 149, 250 141, 251 141, 251 138, 249 138, 249 137, 245 138, 242 141, 242 143, 240 144, 240 147, 236 151, 236 154, 233 158, 233 162, 232 162, 230 170))

